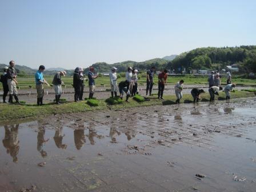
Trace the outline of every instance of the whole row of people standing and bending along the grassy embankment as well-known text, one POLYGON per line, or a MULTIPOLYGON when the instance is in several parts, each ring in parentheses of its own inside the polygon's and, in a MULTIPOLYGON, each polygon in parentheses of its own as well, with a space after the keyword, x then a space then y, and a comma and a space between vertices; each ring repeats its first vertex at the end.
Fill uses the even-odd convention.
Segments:
MULTIPOLYGON (((10 61, 9 67, 5 67, 3 69, 3 74, 1 75, 1 82, 3 84, 3 102, 6 103, 6 96, 9 92, 9 103, 13 103, 13 97, 16 103, 20 103, 18 99, 18 91, 17 91, 17 72, 14 68, 15 62, 10 61)), ((49 86, 49 83, 43 77, 43 71, 45 71, 45 66, 39 66, 38 71, 35 73, 35 87, 37 89, 37 105, 43 105, 43 95, 44 89, 43 85, 49 86)), ((109 73, 110 78, 110 87, 111 87, 111 97, 120 97, 123 99, 123 95, 126 93, 126 102, 129 102, 129 97, 133 97, 139 93, 138 89, 138 70, 132 69, 132 67, 128 67, 125 74, 125 81, 117 82, 117 68, 112 67, 109 73), (119 91, 119 96, 117 92, 119 91)), ((154 85, 154 73, 155 66, 152 66, 146 73, 146 97, 152 95, 153 85, 154 85)), ((165 69, 161 73, 158 74, 158 99, 163 99, 163 91, 165 90, 165 86, 167 85, 167 73, 168 71, 165 69)), ((54 75, 53 78, 53 86, 55 91, 55 103, 60 104, 60 98, 62 95, 62 85, 64 85, 61 77, 65 77, 66 71, 59 71, 54 75)), ((87 75, 88 79, 86 79, 83 75, 82 67, 76 67, 73 74, 73 87, 74 87, 74 101, 78 102, 83 100, 83 90, 85 87, 84 81, 88 81, 89 83, 89 99, 93 98, 95 91, 95 79, 98 78, 98 74, 95 74, 94 67, 89 67, 89 73, 87 75)), ((210 101, 214 101, 214 95, 217 94, 223 88, 221 87, 221 75, 219 73, 215 74, 214 71, 211 71, 211 74, 208 78, 209 81, 209 94, 210 101)), ((182 89, 183 89, 184 81, 181 80, 177 82, 174 86, 175 95, 177 100, 175 103, 180 103, 182 99, 182 89)), ((224 88, 226 93, 226 99, 230 99, 230 91, 233 90, 235 84, 231 83, 231 74, 227 72, 227 85, 224 88)), ((194 88, 191 90, 191 95, 193 97, 193 102, 198 102, 200 99, 200 94, 205 93, 202 89, 194 88)))

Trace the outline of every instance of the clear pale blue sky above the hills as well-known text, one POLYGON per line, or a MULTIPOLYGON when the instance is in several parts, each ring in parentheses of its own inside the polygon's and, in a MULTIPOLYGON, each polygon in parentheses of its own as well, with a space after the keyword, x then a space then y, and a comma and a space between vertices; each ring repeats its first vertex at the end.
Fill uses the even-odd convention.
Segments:
POLYGON ((0 63, 74 69, 256 45, 256 1, 0 0, 0 63))

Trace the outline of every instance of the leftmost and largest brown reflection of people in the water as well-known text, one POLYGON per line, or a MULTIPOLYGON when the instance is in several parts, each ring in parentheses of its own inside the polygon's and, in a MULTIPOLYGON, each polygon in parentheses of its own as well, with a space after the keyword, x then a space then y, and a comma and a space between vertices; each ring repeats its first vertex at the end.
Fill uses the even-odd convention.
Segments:
POLYGON ((19 153, 19 141, 18 141, 18 128, 19 124, 5 126, 5 138, 3 139, 3 146, 6 148, 6 153, 10 153, 13 157, 13 162, 18 162, 18 153, 19 153))

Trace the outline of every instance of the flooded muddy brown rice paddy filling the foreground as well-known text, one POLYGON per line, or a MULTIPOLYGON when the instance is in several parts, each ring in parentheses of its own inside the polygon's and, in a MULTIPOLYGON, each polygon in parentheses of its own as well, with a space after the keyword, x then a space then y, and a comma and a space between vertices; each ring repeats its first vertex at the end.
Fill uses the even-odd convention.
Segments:
POLYGON ((1 125, 0 191, 255 191, 255 112, 251 98, 1 125))

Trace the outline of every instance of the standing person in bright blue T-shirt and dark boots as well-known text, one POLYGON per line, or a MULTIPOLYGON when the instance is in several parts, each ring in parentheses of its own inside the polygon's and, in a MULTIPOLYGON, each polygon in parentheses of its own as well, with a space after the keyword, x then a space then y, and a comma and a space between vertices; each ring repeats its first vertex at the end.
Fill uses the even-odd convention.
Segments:
POLYGON ((38 71, 35 73, 35 87, 37 89, 37 105, 43 105, 43 84, 49 86, 49 84, 43 78, 43 71, 45 71, 45 66, 40 65, 38 71))

